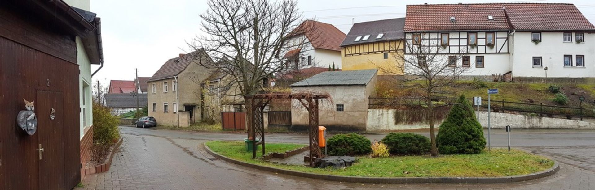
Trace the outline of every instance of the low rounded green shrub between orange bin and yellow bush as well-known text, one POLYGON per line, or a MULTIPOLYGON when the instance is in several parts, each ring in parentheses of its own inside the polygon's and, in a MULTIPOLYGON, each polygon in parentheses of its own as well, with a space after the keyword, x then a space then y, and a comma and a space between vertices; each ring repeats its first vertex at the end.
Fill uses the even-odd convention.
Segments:
POLYGON ((356 156, 372 152, 368 138, 355 133, 337 134, 327 140, 328 155, 356 156))

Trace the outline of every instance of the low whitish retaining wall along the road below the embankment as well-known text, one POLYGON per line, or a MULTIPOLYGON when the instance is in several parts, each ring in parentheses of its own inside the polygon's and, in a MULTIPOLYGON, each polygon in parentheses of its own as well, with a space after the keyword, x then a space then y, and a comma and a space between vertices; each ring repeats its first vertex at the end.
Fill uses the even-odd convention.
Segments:
MULTIPOLYGON (((399 110, 394 109, 368 109, 367 131, 394 131, 402 129, 428 128, 425 121, 401 122, 397 115, 399 110)), ((512 128, 568 128, 568 129, 595 129, 595 124, 586 121, 571 119, 547 118, 538 116, 518 115, 512 113, 492 112, 491 127, 505 128, 511 125, 512 128)), ((480 124, 487 128, 487 112, 480 112, 480 124)), ((442 120, 436 122, 439 127, 442 120)))

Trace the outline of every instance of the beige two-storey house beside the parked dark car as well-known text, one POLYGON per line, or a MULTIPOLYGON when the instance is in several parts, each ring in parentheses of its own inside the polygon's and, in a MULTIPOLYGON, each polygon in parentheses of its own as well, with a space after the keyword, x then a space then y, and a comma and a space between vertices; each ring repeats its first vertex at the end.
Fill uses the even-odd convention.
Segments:
POLYGON ((198 65, 199 61, 212 60, 203 49, 180 54, 165 62, 147 80, 149 116, 153 116, 158 125, 190 126, 201 121, 201 83, 212 71, 198 65))

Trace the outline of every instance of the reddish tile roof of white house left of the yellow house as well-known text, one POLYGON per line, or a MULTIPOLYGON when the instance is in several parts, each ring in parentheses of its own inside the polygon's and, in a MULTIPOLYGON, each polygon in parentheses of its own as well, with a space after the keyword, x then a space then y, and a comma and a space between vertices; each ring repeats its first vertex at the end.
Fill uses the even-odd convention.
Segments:
POLYGON ((293 35, 305 33, 306 37, 314 48, 341 51, 341 43, 346 34, 334 27, 332 24, 321 23, 319 21, 306 20, 295 30, 293 35))

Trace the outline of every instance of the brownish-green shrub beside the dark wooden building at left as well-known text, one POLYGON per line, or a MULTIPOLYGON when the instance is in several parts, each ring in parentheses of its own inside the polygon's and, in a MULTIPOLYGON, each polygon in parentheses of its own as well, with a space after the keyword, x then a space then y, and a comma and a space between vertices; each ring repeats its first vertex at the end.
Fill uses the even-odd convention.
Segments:
POLYGON ((120 139, 118 117, 111 115, 109 107, 93 103, 93 143, 112 144, 120 139))

